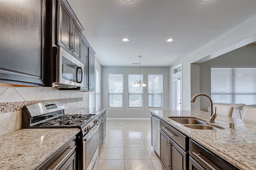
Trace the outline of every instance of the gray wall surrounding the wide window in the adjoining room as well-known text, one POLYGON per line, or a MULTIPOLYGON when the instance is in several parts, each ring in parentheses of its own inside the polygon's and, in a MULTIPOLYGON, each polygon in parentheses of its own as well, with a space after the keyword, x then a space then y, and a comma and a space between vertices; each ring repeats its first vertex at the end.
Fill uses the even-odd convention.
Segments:
MULTIPOLYGON (((240 47, 200 63, 200 93, 211 95, 211 67, 214 66, 256 67, 256 44, 240 47)), ((200 110, 206 111, 207 106, 210 106, 210 102, 200 98, 200 110)))

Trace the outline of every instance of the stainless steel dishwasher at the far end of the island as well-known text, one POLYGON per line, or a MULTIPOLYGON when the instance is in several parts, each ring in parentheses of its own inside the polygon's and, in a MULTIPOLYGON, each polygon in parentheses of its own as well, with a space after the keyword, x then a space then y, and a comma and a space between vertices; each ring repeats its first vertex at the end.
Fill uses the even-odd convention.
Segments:
POLYGON ((160 155, 160 119, 151 114, 151 145, 154 150, 160 155))

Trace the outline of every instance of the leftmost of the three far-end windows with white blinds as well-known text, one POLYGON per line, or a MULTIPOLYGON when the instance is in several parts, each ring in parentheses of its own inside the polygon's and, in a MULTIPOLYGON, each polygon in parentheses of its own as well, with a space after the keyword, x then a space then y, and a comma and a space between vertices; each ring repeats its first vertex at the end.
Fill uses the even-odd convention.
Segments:
POLYGON ((124 107, 123 74, 108 74, 108 107, 124 107))

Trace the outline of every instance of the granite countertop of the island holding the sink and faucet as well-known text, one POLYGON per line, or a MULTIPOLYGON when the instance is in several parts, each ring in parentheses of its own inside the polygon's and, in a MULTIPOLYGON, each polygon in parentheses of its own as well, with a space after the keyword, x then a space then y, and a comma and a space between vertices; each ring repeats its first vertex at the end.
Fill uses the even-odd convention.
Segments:
POLYGON ((204 111, 150 112, 239 169, 256 170, 256 123, 221 115, 217 115, 215 123, 210 123, 210 113, 204 111), (192 129, 168 117, 194 117, 222 129, 192 129), (234 129, 229 128, 230 122, 235 124, 234 129))

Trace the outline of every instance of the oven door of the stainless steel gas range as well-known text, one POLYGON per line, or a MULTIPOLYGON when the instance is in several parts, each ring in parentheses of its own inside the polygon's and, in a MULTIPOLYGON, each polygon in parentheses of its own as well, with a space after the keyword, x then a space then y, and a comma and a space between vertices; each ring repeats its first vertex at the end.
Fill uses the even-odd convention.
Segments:
POLYGON ((98 168, 98 124, 94 125, 92 129, 83 138, 83 169, 92 170, 98 168), (95 163, 96 162, 96 163, 95 163))

